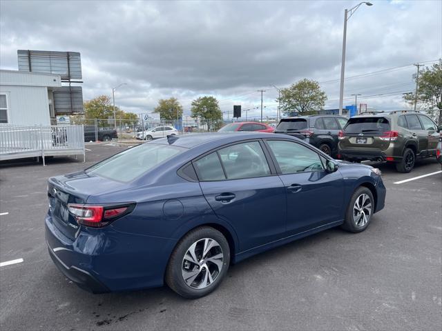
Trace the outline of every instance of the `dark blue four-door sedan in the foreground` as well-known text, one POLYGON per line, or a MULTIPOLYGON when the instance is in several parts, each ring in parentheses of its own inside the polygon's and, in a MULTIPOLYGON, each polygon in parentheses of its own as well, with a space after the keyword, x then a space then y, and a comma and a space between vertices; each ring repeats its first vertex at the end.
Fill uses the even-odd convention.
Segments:
POLYGON ((338 225, 365 230, 385 186, 378 169, 287 135, 211 133, 52 177, 48 197, 48 250, 68 279, 93 292, 165 281, 197 298, 230 263, 338 225))

